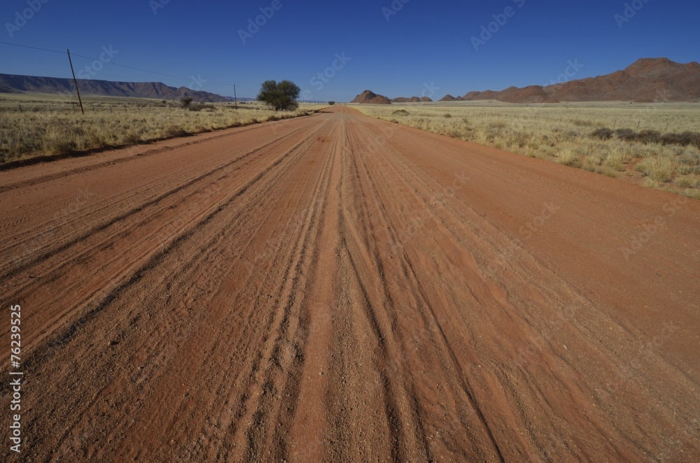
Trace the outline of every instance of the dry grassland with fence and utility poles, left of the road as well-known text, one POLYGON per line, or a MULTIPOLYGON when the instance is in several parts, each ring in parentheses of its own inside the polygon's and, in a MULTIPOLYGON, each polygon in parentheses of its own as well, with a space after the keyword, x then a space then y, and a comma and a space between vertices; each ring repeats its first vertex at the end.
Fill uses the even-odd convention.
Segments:
POLYGON ((0 96, 0 162, 37 155, 118 147, 204 131, 309 115, 321 108, 303 104, 276 112, 257 101, 197 104, 155 99, 87 97, 85 114, 73 97, 0 96))

